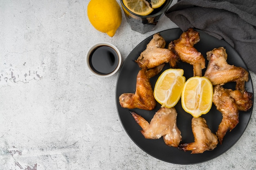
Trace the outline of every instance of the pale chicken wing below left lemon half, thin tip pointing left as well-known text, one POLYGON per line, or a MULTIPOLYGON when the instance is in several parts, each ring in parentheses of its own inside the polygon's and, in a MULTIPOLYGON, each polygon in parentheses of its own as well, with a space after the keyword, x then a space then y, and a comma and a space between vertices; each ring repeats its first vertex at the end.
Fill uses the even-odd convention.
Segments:
POLYGON ((159 139, 163 136, 168 146, 177 147, 182 139, 181 132, 177 127, 177 112, 175 108, 161 107, 154 115, 150 123, 133 111, 133 118, 141 126, 141 133, 146 139, 159 139))

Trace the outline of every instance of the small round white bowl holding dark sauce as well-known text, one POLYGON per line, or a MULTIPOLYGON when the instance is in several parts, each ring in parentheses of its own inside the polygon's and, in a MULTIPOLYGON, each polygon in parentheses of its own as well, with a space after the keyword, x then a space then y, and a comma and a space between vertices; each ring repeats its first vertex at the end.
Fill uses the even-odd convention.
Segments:
POLYGON ((121 54, 114 45, 100 42, 89 48, 86 53, 86 63, 94 75, 109 77, 120 68, 121 54))

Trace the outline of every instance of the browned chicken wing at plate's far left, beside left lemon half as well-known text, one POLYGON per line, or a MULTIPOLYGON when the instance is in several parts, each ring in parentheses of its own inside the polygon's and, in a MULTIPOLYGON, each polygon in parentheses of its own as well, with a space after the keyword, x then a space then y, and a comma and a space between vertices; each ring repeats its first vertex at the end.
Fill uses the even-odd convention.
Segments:
POLYGON ((133 93, 124 93, 119 96, 121 107, 128 109, 144 109, 153 110, 156 106, 156 101, 153 95, 149 79, 157 75, 163 69, 164 64, 147 70, 143 68, 137 74, 136 91, 133 93))

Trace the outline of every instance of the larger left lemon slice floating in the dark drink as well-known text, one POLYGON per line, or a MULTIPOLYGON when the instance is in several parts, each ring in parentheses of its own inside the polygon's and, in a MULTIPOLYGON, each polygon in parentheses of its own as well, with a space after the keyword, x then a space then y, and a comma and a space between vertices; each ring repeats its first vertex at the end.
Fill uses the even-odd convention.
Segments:
POLYGON ((123 0, 124 5, 137 15, 148 15, 153 9, 146 0, 123 0))

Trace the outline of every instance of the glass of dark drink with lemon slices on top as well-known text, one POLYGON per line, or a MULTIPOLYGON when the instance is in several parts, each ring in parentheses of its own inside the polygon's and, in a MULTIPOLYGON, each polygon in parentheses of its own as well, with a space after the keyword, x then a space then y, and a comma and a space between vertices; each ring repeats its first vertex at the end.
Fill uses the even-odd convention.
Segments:
POLYGON ((139 33, 153 31, 173 0, 120 0, 127 22, 139 33))

